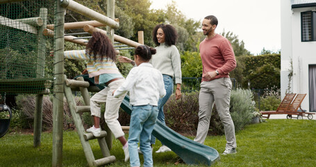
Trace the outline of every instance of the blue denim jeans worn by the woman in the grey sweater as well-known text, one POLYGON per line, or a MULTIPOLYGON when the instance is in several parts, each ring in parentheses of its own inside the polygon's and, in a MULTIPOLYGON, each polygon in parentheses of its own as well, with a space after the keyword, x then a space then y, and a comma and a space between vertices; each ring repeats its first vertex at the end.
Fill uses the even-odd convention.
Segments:
MULTIPOLYGON (((163 106, 169 100, 169 97, 174 92, 174 80, 169 75, 163 75, 163 83, 165 84, 166 95, 163 98, 160 98, 158 101, 158 117, 157 119, 165 125, 165 113, 163 113, 163 106)), ((155 144, 156 138, 151 134, 150 143, 155 144)))

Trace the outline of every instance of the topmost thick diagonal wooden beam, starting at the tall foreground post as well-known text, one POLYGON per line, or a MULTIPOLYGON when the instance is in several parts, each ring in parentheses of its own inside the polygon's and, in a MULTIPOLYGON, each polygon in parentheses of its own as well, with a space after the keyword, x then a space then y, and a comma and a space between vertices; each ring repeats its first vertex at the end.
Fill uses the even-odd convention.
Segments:
POLYGON ((106 17, 105 15, 102 15, 101 13, 97 13, 96 11, 87 8, 80 3, 77 3, 72 0, 68 1, 62 1, 61 4, 64 8, 67 8, 69 10, 72 10, 76 13, 79 13, 81 15, 84 15, 85 17, 88 17, 90 19, 97 20, 98 22, 101 22, 103 24, 106 24, 107 26, 110 26, 113 29, 119 28, 119 23, 115 22, 114 19, 110 19, 109 17, 106 17))

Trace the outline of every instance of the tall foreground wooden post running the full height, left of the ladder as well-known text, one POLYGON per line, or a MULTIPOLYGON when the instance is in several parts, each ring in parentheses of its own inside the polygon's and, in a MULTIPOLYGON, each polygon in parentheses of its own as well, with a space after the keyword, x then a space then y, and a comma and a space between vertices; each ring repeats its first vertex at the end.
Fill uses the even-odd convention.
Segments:
POLYGON ((64 24, 65 8, 55 3, 55 71, 53 84, 53 157, 52 166, 63 166, 63 102, 64 102, 64 24))

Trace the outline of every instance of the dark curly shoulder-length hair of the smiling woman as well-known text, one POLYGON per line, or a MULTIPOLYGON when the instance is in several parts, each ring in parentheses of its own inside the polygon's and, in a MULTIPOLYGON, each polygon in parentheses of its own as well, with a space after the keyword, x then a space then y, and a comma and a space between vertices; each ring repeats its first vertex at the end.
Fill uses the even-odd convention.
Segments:
POLYGON ((153 42, 155 42, 156 46, 160 45, 157 39, 158 29, 163 29, 163 33, 165 33, 165 44, 167 46, 176 45, 178 33, 176 33, 174 26, 170 24, 158 24, 153 28, 153 42))

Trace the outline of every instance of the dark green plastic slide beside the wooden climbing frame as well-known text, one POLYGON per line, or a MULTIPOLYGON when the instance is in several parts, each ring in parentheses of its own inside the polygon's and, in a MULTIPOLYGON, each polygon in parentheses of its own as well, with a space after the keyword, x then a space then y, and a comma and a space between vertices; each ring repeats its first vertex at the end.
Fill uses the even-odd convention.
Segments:
MULTIPOLYGON (((129 105, 129 97, 127 95, 121 104, 121 108, 131 115, 132 109, 129 105)), ((217 150, 185 138, 166 125, 163 125, 159 120, 157 120, 156 126, 153 128, 153 136, 167 145, 185 164, 210 166, 219 160, 217 150)))

